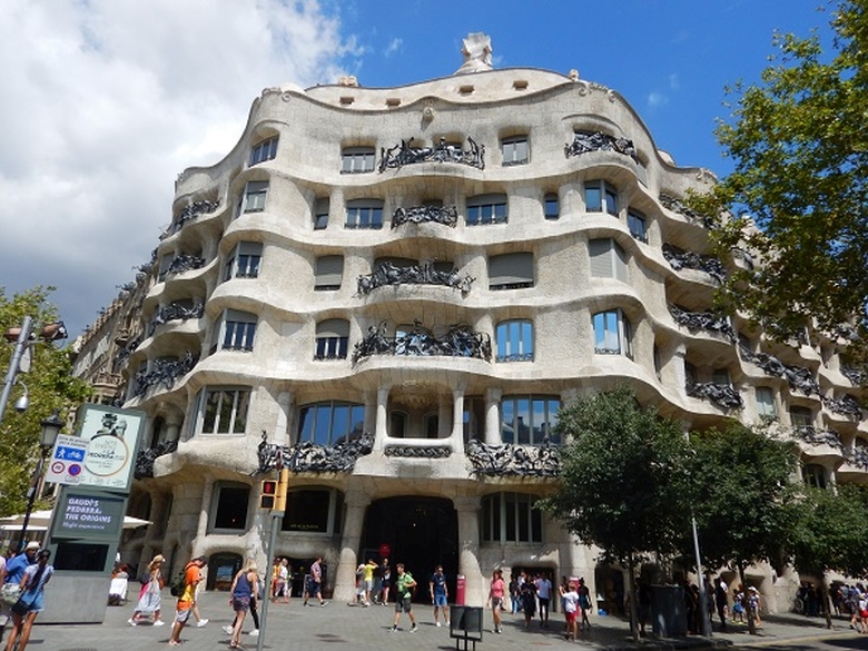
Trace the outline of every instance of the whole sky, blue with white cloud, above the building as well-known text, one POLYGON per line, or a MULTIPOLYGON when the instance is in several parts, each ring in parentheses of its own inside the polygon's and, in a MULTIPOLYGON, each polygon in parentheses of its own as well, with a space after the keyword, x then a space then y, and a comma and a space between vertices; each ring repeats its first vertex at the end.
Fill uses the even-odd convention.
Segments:
MULTIPOLYGON (((70 337, 150 259, 174 184, 240 137, 262 89, 495 68, 619 91, 657 146, 726 176, 724 88, 759 80, 775 30, 829 43, 826 0, 0 0, 0 288, 38 285, 70 337)), ((70 339, 71 341, 71 339, 70 339)))

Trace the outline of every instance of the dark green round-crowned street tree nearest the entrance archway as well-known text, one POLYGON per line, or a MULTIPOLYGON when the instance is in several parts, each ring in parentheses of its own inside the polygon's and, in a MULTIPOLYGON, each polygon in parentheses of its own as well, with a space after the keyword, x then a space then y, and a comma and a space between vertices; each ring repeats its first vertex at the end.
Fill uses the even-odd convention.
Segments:
MULTIPOLYGON (((690 526, 687 442, 678 423, 639 406, 630 388, 579 398, 559 414, 561 485, 541 506, 633 578, 649 552, 673 554, 690 526)), ((632 632, 639 639, 630 581, 632 632)))

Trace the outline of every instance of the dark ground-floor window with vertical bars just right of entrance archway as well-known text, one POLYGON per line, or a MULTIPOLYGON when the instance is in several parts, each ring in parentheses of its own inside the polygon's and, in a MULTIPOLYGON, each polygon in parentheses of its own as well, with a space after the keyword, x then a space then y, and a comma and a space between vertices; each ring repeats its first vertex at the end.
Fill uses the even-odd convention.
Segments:
POLYGON ((541 543, 542 512, 537 497, 526 493, 495 493, 482 499, 482 541, 541 543))

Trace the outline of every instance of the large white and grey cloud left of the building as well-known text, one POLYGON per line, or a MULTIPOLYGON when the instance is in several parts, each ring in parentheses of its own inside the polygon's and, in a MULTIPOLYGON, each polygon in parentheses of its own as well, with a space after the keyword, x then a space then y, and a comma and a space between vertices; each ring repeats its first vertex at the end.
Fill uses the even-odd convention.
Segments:
POLYGON ((57 285, 71 335, 148 260, 175 177, 235 145, 265 87, 333 82, 313 0, 6 0, 0 286, 57 285))

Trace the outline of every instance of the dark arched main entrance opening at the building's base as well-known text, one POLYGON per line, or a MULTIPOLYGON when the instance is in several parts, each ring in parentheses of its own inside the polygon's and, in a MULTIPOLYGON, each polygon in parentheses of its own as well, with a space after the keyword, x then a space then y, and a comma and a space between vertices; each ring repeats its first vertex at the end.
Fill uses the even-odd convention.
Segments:
MULTIPOLYGON (((359 561, 379 560, 381 545, 391 548, 392 580, 395 565, 418 583, 416 600, 431 602, 428 580, 437 564, 446 573, 450 602, 455 599, 458 573, 458 516, 451 500, 443 497, 386 497, 371 503, 365 519, 359 561)), ((389 599, 394 601, 394 590, 389 599)))

